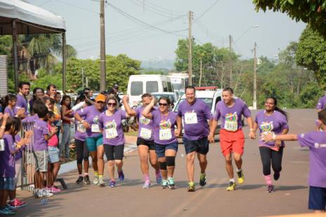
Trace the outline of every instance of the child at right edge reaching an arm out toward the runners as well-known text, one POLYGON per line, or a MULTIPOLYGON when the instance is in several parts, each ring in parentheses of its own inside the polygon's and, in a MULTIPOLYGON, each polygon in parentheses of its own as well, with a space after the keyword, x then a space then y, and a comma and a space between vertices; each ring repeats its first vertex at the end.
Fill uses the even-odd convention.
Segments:
POLYGON ((264 141, 299 141, 300 146, 310 149, 308 209, 325 212, 326 207, 326 109, 318 112, 322 132, 276 135, 266 134, 264 141))

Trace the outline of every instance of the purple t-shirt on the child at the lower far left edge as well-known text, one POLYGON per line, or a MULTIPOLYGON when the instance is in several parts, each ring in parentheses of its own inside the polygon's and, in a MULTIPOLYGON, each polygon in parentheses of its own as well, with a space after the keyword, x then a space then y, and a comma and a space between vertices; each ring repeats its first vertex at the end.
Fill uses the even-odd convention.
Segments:
POLYGON ((15 177, 15 144, 11 134, 4 134, 4 151, 0 151, 0 177, 15 177))

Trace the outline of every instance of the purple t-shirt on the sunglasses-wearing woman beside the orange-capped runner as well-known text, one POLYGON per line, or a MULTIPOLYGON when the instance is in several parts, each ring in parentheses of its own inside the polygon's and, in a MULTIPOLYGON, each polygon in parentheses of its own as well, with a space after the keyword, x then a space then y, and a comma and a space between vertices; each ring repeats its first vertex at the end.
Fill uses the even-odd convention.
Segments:
POLYGON ((112 116, 107 116, 105 112, 100 114, 98 122, 103 130, 103 144, 119 146, 124 144, 124 132, 121 120, 126 118, 126 111, 118 109, 112 116))

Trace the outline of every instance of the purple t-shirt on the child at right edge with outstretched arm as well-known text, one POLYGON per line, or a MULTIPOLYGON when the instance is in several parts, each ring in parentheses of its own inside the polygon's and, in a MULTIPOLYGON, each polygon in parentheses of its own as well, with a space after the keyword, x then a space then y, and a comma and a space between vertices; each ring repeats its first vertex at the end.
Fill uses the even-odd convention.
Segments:
POLYGON ((309 186, 326 188, 326 132, 299 134, 298 141, 310 148, 309 186))

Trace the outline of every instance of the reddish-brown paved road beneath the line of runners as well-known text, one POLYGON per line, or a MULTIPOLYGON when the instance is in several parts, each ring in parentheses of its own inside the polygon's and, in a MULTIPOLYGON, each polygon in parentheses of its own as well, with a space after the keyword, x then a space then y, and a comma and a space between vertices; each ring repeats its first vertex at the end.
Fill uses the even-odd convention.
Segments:
MULTIPOLYGON (((290 132, 313 130, 315 110, 289 110, 290 132)), ((255 113, 255 112, 254 112, 255 113)), ((244 132, 249 133, 248 127, 244 132)), ((308 211, 308 150, 297 142, 287 142, 280 180, 274 182, 275 193, 266 193, 257 141, 246 139, 244 148, 245 183, 234 192, 227 192, 228 177, 219 144, 210 145, 207 169, 208 183, 187 192, 185 151, 179 146, 176 158, 176 190, 161 189, 157 184, 142 189, 143 181, 136 151, 124 160, 126 180, 117 188, 77 186, 77 172, 63 174, 69 190, 49 199, 46 205, 30 193, 20 192, 29 205, 16 216, 268 216, 299 214, 308 211)), ((197 162, 196 162, 197 166, 197 162)), ((195 168, 196 181, 199 180, 195 168)), ((152 183, 154 171, 150 170, 152 183)), ((108 181, 105 172, 105 181, 108 181)), ((197 184, 197 186, 199 186, 197 184)))

